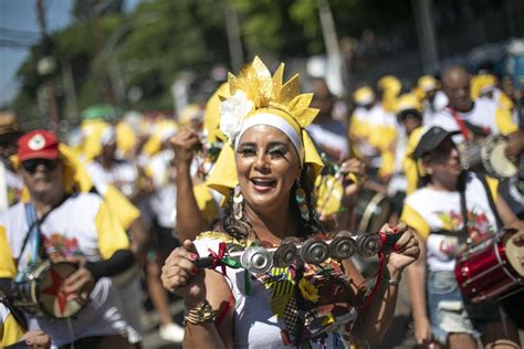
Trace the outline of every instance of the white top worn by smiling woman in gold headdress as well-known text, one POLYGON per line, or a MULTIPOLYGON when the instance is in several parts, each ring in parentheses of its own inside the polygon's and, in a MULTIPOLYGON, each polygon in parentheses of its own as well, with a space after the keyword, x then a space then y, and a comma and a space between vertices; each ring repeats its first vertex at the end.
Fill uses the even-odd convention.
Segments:
MULTIPOLYGON (((219 240, 209 237, 195 241, 200 256, 209 255, 208 248, 218 252, 219 243, 219 240)), ((220 267, 217 267, 217 271, 220 271, 220 267)), ((283 348, 284 343, 281 331, 285 329, 285 322, 281 317, 277 318, 273 310, 279 307, 283 310, 286 302, 282 300, 282 298, 276 298, 280 299, 280 302, 272 299, 272 292, 274 292, 274 289, 280 289, 280 292, 287 289, 292 292, 293 286, 291 282, 289 285, 284 285, 287 284, 286 281, 291 278, 290 268, 274 267, 266 274, 250 274, 249 284, 251 292, 249 295, 244 287, 244 269, 227 267, 226 276, 226 281, 231 287, 235 302, 233 347, 283 348), (284 277, 284 279, 281 283, 271 283, 271 276, 269 275, 279 275, 284 277)), ((346 313, 346 318, 340 316, 338 319, 344 321, 344 324, 352 324, 355 321, 356 315, 355 309, 350 308, 350 311, 346 313)), ((328 336, 325 339, 327 347, 323 347, 321 342, 311 340, 312 348, 347 348, 340 338, 344 332, 344 324, 334 326, 334 328, 327 332, 328 336)))

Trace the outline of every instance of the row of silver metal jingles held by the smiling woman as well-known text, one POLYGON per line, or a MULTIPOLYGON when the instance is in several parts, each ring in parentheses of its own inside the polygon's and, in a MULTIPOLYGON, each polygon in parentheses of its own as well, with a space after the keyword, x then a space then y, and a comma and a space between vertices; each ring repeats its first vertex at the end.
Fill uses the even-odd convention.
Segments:
MULTIPOLYGON (((290 266, 296 261, 312 265, 321 265, 327 258, 347 260, 355 253, 371 257, 377 255, 384 245, 395 244, 401 234, 369 234, 354 235, 348 231, 338 232, 333 240, 319 237, 308 239, 303 243, 296 243, 297 239, 289 237, 279 247, 264 248, 262 246, 250 246, 239 251, 239 245, 229 244, 224 255, 229 260, 240 263, 242 268, 250 273, 264 273, 271 267, 290 266)), ((201 257, 195 262, 198 268, 217 266, 216 256, 201 257)))

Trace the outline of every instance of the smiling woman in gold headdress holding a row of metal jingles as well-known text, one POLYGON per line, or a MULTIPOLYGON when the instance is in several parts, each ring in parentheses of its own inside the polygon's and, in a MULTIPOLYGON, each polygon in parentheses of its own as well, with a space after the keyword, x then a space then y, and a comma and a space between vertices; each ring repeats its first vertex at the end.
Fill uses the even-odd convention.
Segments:
POLYGON ((271 76, 258 57, 229 77, 231 96, 220 117, 228 142, 208 180, 226 195, 221 221, 216 231, 184 242, 163 268, 164 286, 185 300, 187 348, 343 347, 344 329, 378 341, 395 310, 398 279, 418 256, 413 235, 405 233, 397 252, 386 252, 389 282, 360 314, 364 281, 348 260, 265 273, 196 267, 199 256, 220 253, 226 243, 277 246, 324 232, 311 195, 322 161, 304 131, 317 110, 308 107, 312 95, 300 93, 297 75, 285 84, 282 77, 283 65, 271 76))

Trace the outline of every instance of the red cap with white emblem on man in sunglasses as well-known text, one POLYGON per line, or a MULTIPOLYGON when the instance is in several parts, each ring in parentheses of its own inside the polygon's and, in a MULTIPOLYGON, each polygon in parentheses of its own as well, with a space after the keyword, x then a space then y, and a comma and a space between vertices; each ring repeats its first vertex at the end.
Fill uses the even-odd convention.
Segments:
POLYGON ((59 139, 43 129, 30 131, 18 140, 18 159, 50 159, 59 157, 59 139))

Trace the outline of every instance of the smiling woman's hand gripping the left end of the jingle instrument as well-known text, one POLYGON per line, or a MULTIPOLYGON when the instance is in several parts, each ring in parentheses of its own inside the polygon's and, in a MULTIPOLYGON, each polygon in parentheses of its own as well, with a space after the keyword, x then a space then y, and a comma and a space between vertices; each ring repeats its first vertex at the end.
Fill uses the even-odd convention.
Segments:
POLYGON ((203 273, 199 273, 193 262, 199 258, 190 240, 175 248, 161 268, 164 287, 182 297, 187 305, 200 305, 206 300, 203 273))

